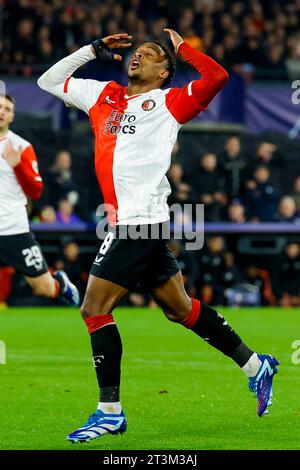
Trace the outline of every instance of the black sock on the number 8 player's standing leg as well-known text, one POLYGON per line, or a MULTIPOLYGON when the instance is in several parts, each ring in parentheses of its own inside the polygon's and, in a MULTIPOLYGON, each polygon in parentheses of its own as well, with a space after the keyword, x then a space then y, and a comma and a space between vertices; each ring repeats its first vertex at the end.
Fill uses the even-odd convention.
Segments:
POLYGON ((94 366, 101 402, 120 401, 122 342, 115 324, 91 333, 94 366))

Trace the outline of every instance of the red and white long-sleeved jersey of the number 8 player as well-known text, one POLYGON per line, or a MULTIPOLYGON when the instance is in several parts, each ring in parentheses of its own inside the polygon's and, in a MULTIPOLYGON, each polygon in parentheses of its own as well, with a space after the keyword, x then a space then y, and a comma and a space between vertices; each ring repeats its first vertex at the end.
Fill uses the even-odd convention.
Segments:
POLYGON ((89 115, 96 174, 112 224, 168 220, 166 173, 178 131, 206 109, 227 81, 220 65, 188 44, 179 46, 179 55, 201 73, 201 80, 127 96, 127 88, 116 82, 70 77, 95 58, 90 46, 62 59, 38 80, 41 88, 89 115))

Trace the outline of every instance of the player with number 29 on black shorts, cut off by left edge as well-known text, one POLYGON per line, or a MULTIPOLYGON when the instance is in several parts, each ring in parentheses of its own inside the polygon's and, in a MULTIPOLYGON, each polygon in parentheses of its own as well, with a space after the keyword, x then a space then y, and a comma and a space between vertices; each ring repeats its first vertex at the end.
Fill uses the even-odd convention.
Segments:
POLYGON ((78 305, 77 288, 64 271, 51 275, 29 229, 27 197, 38 199, 43 181, 32 145, 9 129, 14 107, 10 95, 0 96, 0 264, 23 274, 35 295, 78 305))

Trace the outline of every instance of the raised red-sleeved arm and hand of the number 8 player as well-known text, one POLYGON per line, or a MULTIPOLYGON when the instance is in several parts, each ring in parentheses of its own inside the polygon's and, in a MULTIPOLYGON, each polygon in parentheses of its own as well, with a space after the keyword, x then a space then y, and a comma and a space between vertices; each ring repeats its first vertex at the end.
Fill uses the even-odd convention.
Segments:
POLYGON ((228 73, 211 57, 184 42, 176 31, 165 31, 170 34, 176 53, 201 75, 201 79, 194 80, 183 88, 172 88, 166 96, 169 111, 180 124, 184 124, 207 108, 210 101, 224 88, 228 73))

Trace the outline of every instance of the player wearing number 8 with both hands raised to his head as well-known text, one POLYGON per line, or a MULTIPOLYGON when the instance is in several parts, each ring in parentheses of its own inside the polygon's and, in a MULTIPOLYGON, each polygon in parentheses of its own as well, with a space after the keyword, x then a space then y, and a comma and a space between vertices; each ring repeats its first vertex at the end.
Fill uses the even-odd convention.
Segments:
MULTIPOLYGON (((128 66, 128 86, 114 81, 75 79, 75 70, 96 57, 121 60, 111 49, 129 47, 131 36, 115 34, 84 46, 60 60, 38 85, 68 106, 85 111, 95 134, 95 167, 112 226, 93 263, 82 305, 91 336, 100 388, 97 410, 67 438, 86 442, 126 430, 120 403, 122 343, 112 311, 137 283, 145 288, 167 318, 192 330, 235 361, 249 377, 258 399, 258 415, 271 403, 278 361, 258 355, 242 342, 213 308, 190 298, 175 257, 164 239, 133 239, 122 230, 151 228, 169 219, 170 193, 166 172, 181 125, 206 109, 224 87, 228 75, 214 60, 166 29, 175 52, 192 65, 201 79, 183 88, 166 88, 175 64, 169 50, 147 42, 137 47, 128 66)), ((104 66, 104 65, 103 65, 104 66)))

